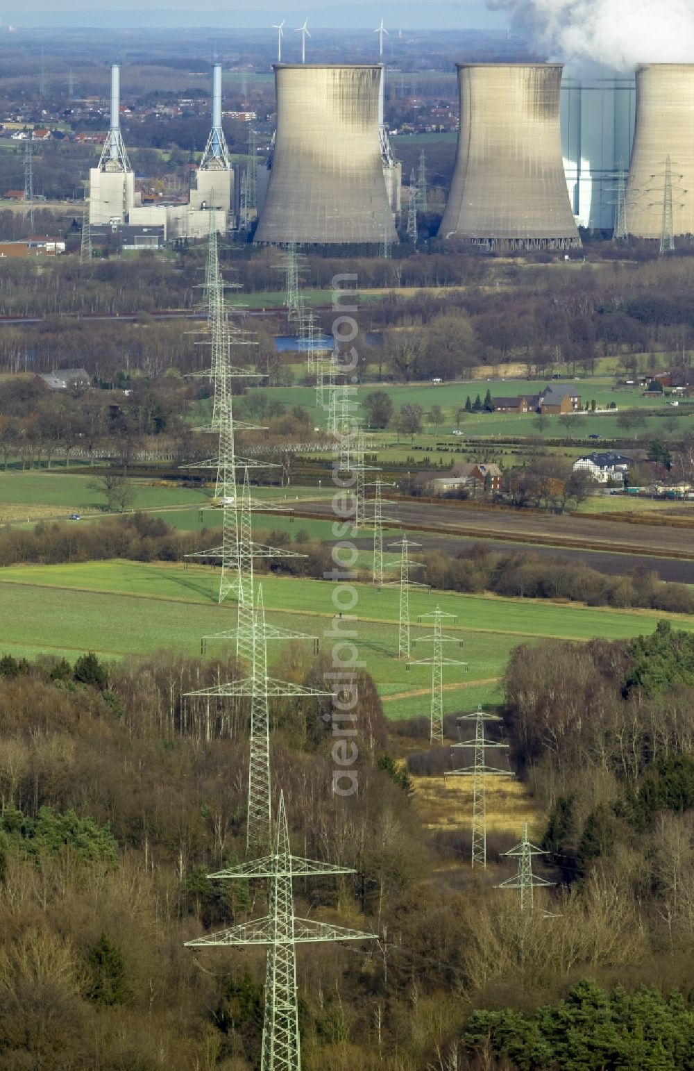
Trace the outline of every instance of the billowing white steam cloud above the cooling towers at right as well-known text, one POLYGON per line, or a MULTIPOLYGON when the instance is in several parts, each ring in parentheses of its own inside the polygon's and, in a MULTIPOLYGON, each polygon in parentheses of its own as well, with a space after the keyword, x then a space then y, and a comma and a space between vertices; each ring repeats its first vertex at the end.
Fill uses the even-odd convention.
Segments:
POLYGON ((488 0, 557 60, 694 63, 694 0, 488 0))

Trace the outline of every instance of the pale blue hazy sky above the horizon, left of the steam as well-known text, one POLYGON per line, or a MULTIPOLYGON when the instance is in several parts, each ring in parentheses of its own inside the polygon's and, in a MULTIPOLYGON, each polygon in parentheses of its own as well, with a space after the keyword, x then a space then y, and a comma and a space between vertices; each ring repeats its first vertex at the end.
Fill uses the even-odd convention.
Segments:
MULTIPOLYGON (((505 13, 491 12, 484 0, 34 0, 21 6, 2 6, 3 22, 22 27, 161 26, 171 29, 206 28, 217 25, 225 29, 264 27, 288 17, 291 22, 306 15, 314 27, 371 28, 381 16, 386 25, 407 29, 496 29, 507 25, 505 13)), ((297 22, 298 25, 298 22, 297 22)))

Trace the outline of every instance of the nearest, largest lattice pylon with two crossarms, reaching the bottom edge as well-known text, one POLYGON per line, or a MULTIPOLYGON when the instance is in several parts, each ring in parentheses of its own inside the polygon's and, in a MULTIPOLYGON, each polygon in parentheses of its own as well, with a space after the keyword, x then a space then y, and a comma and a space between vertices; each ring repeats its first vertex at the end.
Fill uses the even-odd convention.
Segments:
POLYGON ((292 855, 284 795, 280 793, 273 854, 210 875, 211 879, 232 881, 269 879, 268 915, 186 942, 186 948, 267 946, 261 1071, 300 1071, 296 946, 318 941, 377 939, 376 934, 297 918, 294 912, 294 878, 325 877, 333 874, 354 874, 354 871, 292 855))

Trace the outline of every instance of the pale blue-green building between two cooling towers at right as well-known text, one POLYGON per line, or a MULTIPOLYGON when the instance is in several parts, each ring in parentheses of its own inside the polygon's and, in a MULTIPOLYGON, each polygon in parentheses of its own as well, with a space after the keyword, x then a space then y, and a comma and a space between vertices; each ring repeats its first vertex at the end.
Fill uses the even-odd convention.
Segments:
POLYGON ((576 223, 589 230, 615 226, 635 111, 633 77, 565 76, 561 82, 561 151, 569 199, 576 223))

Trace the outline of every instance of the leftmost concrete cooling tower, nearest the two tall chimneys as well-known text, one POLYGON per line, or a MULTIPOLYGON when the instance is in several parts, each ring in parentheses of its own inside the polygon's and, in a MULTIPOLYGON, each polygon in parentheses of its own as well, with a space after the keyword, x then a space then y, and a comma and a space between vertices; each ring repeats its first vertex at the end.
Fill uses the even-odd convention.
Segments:
POLYGON ((255 241, 397 242, 379 135, 381 67, 277 64, 277 132, 255 241))

